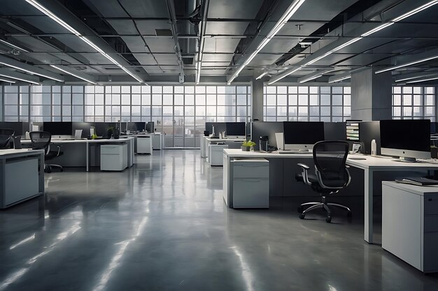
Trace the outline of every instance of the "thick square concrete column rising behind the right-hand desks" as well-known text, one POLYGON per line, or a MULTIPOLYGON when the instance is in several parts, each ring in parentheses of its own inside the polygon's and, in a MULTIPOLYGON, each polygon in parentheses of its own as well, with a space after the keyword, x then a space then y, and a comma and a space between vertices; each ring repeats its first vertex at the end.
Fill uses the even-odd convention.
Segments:
POLYGON ((392 118, 391 72, 375 74, 376 68, 351 73, 351 119, 363 121, 392 118))

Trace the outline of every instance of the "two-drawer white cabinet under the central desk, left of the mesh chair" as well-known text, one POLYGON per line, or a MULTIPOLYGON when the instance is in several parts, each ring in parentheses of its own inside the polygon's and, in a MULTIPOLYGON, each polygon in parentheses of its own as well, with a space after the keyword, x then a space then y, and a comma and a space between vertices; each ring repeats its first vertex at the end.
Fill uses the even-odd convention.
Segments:
POLYGON ((231 163, 233 208, 269 208, 269 161, 242 159, 231 163))

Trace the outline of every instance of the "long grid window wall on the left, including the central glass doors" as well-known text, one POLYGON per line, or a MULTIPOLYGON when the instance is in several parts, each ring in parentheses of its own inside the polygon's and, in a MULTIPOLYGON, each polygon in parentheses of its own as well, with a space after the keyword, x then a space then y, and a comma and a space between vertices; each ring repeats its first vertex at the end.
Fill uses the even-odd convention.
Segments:
POLYGON ((5 121, 154 121, 165 147, 199 147, 206 121, 249 121, 248 86, 5 86, 5 121))

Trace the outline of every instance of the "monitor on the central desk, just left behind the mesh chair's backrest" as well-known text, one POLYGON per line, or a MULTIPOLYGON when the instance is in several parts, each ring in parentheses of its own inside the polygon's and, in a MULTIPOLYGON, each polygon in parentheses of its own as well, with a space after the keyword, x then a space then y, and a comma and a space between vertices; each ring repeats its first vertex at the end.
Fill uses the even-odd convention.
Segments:
POLYGON ((315 121, 284 121, 286 150, 313 149, 313 144, 324 140, 324 123, 315 121))

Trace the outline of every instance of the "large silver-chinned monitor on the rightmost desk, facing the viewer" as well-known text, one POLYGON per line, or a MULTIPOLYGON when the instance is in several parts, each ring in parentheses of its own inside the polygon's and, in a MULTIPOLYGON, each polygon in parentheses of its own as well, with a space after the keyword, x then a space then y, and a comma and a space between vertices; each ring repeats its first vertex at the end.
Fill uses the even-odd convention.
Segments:
POLYGON ((382 155, 409 162, 430 158, 430 120, 381 120, 380 142, 382 155))

